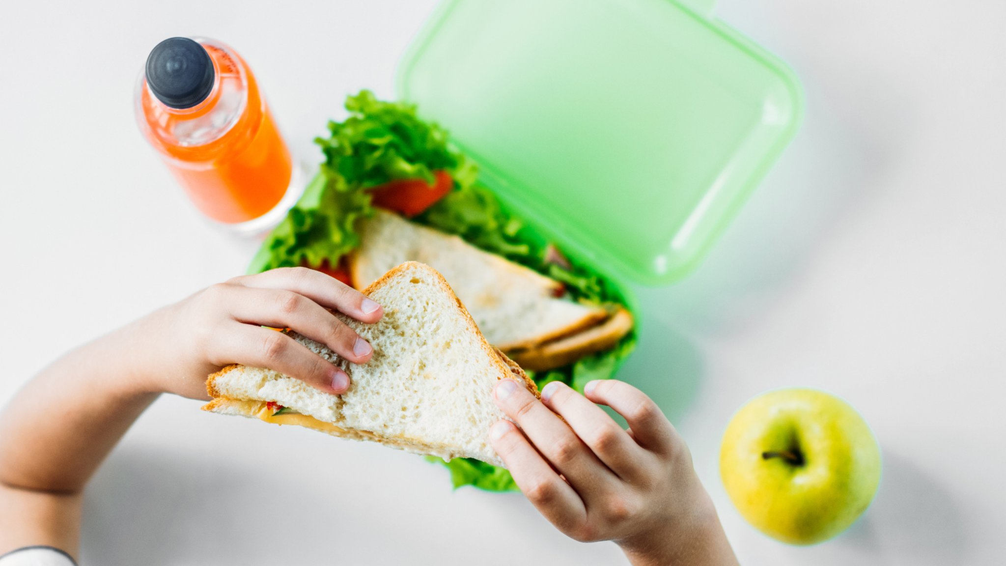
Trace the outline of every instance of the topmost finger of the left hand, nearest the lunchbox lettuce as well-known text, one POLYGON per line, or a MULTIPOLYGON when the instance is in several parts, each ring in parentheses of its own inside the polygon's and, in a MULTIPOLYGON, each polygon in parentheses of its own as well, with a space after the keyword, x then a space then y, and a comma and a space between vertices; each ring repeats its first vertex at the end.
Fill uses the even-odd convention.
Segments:
POLYGON ((235 277, 230 282, 245 287, 293 291, 361 322, 376 322, 383 314, 373 299, 334 277, 306 267, 283 267, 235 277))

